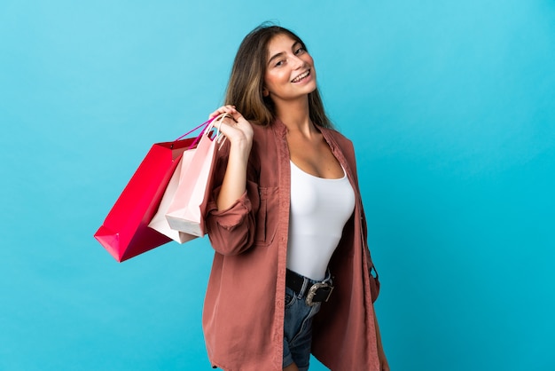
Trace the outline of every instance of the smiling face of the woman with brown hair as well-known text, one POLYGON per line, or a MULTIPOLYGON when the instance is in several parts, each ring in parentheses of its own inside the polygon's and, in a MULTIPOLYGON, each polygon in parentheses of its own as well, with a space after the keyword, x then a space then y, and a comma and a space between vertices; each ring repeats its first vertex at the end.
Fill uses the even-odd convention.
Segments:
POLYGON ((262 94, 278 104, 306 98, 316 88, 316 70, 309 52, 290 36, 274 36, 268 44, 262 94))

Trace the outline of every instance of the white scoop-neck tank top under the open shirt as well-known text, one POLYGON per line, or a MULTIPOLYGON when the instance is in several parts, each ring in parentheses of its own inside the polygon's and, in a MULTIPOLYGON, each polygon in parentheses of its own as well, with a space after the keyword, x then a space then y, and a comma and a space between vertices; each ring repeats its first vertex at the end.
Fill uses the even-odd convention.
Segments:
POLYGON ((291 162, 291 211, 287 268, 324 280, 343 227, 355 209, 355 192, 343 178, 318 178, 291 162))

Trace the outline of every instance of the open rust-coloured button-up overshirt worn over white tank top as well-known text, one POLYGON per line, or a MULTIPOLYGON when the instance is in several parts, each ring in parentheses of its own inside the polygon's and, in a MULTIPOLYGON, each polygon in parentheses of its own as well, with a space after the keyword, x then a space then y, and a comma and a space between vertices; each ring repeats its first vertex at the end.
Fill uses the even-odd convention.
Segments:
MULTIPOLYGON (((246 193, 229 209, 215 199, 229 145, 217 154, 206 223, 215 249, 203 308, 203 329, 213 367, 236 371, 282 370, 285 269, 291 168, 286 127, 254 126, 246 193)), ((334 290, 313 325, 312 354, 333 371, 379 370, 366 221, 348 138, 317 127, 355 191, 355 210, 330 260, 334 290)))

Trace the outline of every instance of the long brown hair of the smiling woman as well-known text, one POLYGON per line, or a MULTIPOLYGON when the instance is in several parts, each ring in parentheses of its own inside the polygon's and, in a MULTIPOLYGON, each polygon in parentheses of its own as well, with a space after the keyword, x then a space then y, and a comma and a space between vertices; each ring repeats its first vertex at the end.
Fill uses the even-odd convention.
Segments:
MULTIPOLYGON (((225 94, 226 105, 234 105, 246 120, 259 125, 270 125, 276 119, 274 104, 270 97, 262 95, 262 87, 266 74, 268 44, 277 35, 290 36, 307 49, 301 38, 287 28, 267 24, 254 28, 239 45, 225 94)), ((309 115, 312 122, 325 128, 333 127, 324 112, 318 88, 309 93, 309 115)))

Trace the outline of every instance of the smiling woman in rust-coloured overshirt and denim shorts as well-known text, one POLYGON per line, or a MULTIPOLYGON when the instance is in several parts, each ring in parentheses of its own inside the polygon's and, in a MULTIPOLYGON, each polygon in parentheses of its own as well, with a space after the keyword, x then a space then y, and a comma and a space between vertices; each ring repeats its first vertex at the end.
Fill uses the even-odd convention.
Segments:
POLYGON ((239 46, 206 222, 214 263, 207 352, 226 370, 388 370, 351 142, 332 130, 301 39, 277 26, 239 46), (373 291, 373 292, 372 292, 373 291), (375 298, 375 297, 374 297, 375 298))

